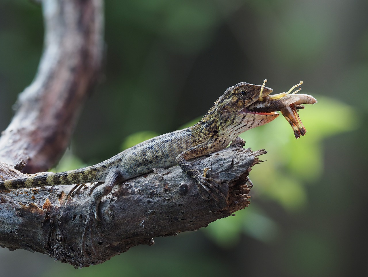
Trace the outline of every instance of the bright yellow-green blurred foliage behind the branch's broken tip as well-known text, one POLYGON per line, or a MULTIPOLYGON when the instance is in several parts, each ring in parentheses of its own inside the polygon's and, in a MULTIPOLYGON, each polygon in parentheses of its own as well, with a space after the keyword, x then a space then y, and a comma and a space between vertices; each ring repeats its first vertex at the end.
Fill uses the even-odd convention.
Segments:
POLYGON ((275 199, 287 210, 304 207, 307 201, 304 185, 321 177, 324 171, 323 143, 333 135, 356 129, 359 124, 352 107, 314 96, 318 103, 305 105, 306 109, 299 112, 307 129, 304 137, 296 140, 290 126, 279 119, 268 124, 267 129, 262 127, 261 131, 250 130, 241 135, 244 140, 251 141, 253 149, 269 150, 265 156, 268 165, 255 166, 252 178, 262 184, 258 190, 262 196, 275 199))

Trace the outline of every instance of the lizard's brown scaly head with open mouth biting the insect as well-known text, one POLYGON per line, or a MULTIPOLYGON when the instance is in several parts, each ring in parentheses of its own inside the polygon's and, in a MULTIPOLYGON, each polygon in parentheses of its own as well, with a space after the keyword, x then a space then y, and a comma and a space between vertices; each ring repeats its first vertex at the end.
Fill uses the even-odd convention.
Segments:
POLYGON ((271 122, 277 116, 276 112, 255 112, 248 109, 261 97, 266 97, 272 92, 271 88, 263 85, 239 83, 228 88, 217 99, 215 105, 203 118, 204 122, 216 125, 216 129, 227 134, 232 140, 239 134, 266 123, 271 122))

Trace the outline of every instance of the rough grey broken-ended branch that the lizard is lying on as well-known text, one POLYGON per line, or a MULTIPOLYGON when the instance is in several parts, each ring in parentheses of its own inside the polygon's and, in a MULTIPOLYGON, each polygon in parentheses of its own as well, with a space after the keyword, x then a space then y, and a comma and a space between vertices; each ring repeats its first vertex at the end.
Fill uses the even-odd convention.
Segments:
POLYGON ((0 245, 45 253, 75 267, 102 263, 139 244, 153 245, 153 237, 194 231, 227 217, 249 204, 245 182, 251 166, 266 151, 252 152, 235 144, 193 165, 208 166, 208 176, 222 181, 220 191, 228 203, 205 200, 179 166, 115 186, 99 207, 101 221, 86 240, 88 257, 81 254, 81 238, 90 197, 89 188, 49 186, 1 192, 0 245))

